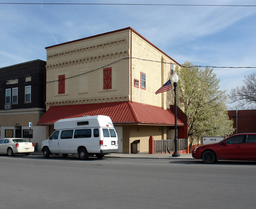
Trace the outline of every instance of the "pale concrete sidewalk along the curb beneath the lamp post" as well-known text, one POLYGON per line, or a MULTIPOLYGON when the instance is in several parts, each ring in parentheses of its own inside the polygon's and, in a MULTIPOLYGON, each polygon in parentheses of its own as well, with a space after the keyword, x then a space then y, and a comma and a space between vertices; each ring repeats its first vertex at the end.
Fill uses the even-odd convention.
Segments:
MULTIPOLYGON (((41 155, 43 152, 32 152, 31 155, 41 155)), ((138 154, 126 154, 126 153, 111 153, 105 155, 107 158, 148 158, 148 159, 194 159, 191 154, 180 154, 179 157, 172 157, 172 154, 149 154, 148 152, 142 152, 138 154)))

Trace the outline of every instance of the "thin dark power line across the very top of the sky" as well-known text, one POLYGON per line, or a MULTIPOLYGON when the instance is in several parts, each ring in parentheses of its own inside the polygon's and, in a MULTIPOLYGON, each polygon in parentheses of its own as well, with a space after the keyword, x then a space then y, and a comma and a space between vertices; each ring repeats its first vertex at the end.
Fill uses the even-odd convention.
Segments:
POLYGON ((40 5, 126 5, 126 6, 228 6, 255 7, 256 5, 218 5, 218 4, 129 4, 129 3, 0 3, 0 4, 40 4, 40 5))

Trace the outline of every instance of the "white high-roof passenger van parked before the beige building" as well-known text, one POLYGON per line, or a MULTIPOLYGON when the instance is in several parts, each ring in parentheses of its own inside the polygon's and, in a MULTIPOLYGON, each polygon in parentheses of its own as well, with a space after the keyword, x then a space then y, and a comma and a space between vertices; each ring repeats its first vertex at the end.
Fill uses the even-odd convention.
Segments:
POLYGON ((79 159, 87 160, 96 155, 118 152, 118 138, 113 123, 108 116, 85 116, 68 118, 54 123, 54 133, 42 142, 44 158, 50 154, 78 154, 79 159))

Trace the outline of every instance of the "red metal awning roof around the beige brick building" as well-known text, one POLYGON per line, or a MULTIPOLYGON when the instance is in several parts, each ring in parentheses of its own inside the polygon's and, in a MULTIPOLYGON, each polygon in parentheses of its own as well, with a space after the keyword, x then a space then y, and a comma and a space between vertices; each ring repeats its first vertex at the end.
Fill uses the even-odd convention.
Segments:
MULTIPOLYGON (((140 123, 154 125, 174 125, 174 113, 161 107, 137 102, 107 102, 81 105, 51 106, 37 125, 51 125, 57 120, 82 116, 106 115, 113 123, 140 123)), ((178 125, 184 125, 177 118, 178 125)))

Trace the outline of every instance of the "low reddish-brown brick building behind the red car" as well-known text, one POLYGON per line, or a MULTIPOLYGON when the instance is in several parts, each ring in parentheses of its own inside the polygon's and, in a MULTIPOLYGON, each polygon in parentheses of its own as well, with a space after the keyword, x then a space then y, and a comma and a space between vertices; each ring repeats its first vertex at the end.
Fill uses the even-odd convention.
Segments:
POLYGON ((233 120, 233 134, 256 133, 256 110, 229 110, 229 120, 233 120))

